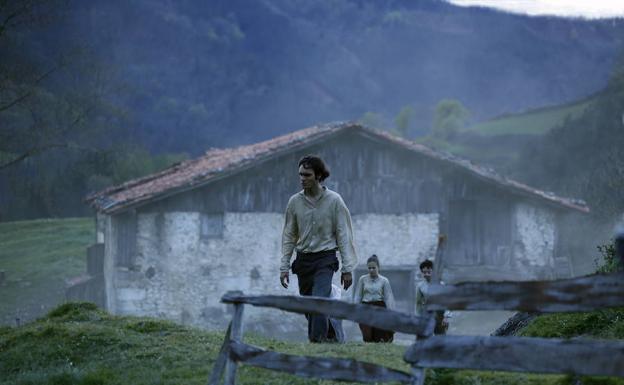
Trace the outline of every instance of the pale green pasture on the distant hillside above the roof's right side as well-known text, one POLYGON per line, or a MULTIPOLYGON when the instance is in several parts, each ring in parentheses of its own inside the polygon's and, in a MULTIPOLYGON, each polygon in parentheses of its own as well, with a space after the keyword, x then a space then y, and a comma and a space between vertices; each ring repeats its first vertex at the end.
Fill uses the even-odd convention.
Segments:
POLYGON ((574 119, 585 111, 593 98, 563 106, 540 108, 522 114, 502 116, 477 123, 464 129, 464 132, 484 136, 496 135, 543 135, 561 125, 566 119, 574 119))

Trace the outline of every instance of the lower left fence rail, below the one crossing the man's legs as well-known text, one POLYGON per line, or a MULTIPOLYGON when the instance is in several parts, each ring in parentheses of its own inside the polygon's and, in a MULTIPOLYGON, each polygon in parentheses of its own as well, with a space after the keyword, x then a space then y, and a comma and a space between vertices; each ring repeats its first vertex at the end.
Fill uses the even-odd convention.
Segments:
POLYGON ((246 365, 294 374, 298 377, 353 382, 409 383, 408 373, 384 366, 342 358, 304 357, 260 349, 233 341, 230 357, 246 365))

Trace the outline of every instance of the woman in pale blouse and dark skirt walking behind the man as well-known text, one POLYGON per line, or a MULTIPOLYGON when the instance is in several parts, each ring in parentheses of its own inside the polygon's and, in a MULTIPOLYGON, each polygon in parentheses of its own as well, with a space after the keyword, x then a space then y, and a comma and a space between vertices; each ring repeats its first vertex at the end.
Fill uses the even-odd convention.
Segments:
MULTIPOLYGON (((394 296, 388 278, 379 274, 379 258, 373 254, 366 261, 368 274, 363 275, 353 292, 353 302, 388 309, 394 308, 394 296)), ((364 342, 392 342, 394 332, 378 329, 369 325, 359 324, 364 342)))

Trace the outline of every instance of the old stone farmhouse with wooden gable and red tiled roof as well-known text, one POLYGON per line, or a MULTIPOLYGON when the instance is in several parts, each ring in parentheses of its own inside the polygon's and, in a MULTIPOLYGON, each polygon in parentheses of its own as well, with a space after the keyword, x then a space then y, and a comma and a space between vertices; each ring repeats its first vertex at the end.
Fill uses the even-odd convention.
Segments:
MULTIPOLYGON (((219 298, 228 290, 296 294, 296 278, 284 290, 278 270, 283 213, 300 190, 297 162, 306 154, 325 159, 332 173, 326 185, 351 211, 361 263, 355 279, 377 254, 402 310, 413 310, 418 264, 435 256, 441 234, 447 282, 575 274, 565 245, 569 223, 589 211, 582 201, 387 132, 340 123, 211 149, 88 197, 97 244, 89 249, 89 275, 68 296, 87 297, 115 314, 224 328, 230 315, 219 298)), ((249 309, 248 324, 305 335, 301 316, 276 312, 249 309)))

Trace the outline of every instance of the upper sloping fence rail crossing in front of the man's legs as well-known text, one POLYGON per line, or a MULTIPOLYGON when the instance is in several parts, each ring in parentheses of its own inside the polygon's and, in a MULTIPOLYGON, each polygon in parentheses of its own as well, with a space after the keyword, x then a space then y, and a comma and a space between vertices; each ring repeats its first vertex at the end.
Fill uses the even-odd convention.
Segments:
POLYGON ((228 292, 222 298, 225 303, 246 303, 254 306, 272 307, 294 313, 326 314, 330 317, 364 323, 380 329, 415 335, 426 335, 429 317, 417 317, 382 307, 351 304, 321 297, 280 295, 246 296, 228 292))

